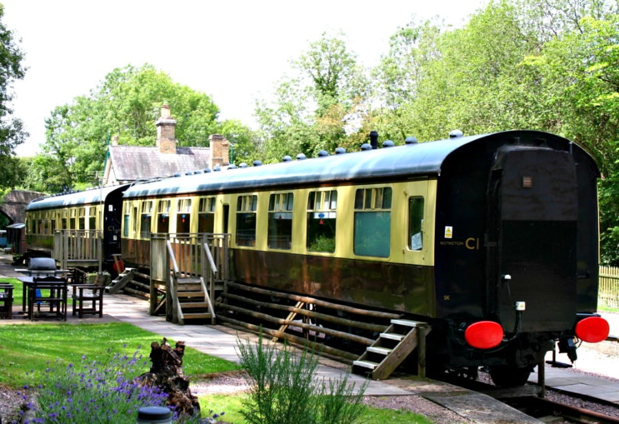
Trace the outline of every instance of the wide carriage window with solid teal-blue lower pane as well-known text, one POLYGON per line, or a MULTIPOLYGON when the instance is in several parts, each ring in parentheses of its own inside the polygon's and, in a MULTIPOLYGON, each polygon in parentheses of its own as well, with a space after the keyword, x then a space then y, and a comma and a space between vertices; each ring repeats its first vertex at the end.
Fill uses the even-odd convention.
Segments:
POLYGON ((360 188, 355 195, 354 252, 389 257, 391 188, 360 188))

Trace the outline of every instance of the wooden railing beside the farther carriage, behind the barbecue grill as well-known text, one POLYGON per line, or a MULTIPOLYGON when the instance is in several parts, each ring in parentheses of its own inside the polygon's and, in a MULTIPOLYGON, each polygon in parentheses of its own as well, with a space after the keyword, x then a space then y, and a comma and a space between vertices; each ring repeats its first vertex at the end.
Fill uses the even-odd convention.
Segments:
POLYGON ((103 243, 100 230, 56 230, 52 258, 61 269, 75 265, 98 265, 102 271, 103 243))

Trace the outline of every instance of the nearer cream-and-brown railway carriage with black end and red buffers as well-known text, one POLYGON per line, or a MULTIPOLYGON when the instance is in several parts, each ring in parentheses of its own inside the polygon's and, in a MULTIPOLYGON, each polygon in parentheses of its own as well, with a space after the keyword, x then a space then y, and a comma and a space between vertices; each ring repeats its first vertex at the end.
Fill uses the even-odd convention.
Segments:
POLYGON ((185 175, 124 192, 122 252, 148 267, 151 233, 230 233, 238 282, 426 320, 442 368, 523 383, 555 341, 608 332, 597 177, 539 131, 185 175))

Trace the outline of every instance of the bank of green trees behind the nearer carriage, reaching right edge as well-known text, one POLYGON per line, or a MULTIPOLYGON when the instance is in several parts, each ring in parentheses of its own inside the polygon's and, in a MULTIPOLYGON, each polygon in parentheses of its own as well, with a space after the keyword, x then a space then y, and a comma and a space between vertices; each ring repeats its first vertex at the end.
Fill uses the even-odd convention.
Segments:
POLYGON ((274 104, 259 104, 264 145, 281 157, 356 148, 371 129, 396 144, 453 129, 558 133, 598 161, 602 260, 619 265, 618 12, 613 0, 494 0, 460 28, 411 21, 391 37, 371 85, 343 39, 323 35, 274 104), (357 132, 345 131, 351 116, 357 132))

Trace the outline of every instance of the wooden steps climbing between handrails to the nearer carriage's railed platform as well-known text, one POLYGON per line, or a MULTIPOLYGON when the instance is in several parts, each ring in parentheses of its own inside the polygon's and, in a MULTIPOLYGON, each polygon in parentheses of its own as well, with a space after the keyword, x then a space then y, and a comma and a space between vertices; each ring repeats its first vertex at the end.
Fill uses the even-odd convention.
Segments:
POLYGON ((215 320, 204 278, 175 278, 175 317, 178 324, 186 320, 215 320))

